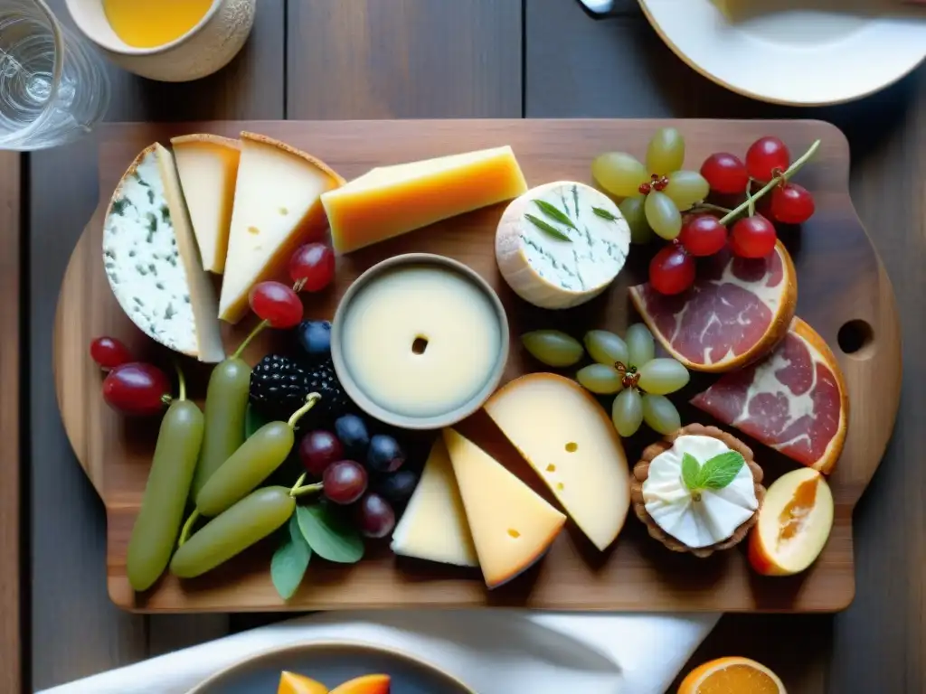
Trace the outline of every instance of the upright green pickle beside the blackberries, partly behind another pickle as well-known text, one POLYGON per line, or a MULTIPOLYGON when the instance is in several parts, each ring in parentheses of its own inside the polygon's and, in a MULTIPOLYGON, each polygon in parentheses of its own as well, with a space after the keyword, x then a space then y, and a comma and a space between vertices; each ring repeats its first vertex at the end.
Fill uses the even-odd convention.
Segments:
POLYGON ((206 390, 206 433, 193 478, 194 498, 209 477, 244 443, 251 367, 237 355, 212 369, 206 390))

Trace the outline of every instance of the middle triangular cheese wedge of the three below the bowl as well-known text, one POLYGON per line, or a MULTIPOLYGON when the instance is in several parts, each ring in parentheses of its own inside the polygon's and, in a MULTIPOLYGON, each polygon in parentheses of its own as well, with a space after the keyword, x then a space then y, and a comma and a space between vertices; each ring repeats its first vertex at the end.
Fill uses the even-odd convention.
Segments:
POLYGON ((566 516, 453 429, 444 443, 485 584, 501 586, 544 555, 566 516))

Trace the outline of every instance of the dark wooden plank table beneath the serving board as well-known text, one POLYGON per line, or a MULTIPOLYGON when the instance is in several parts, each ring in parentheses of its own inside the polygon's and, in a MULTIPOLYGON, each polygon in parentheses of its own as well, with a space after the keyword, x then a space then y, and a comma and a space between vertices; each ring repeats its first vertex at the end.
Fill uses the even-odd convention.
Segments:
MULTIPOLYGON (((68 19, 63 0, 52 5, 68 19)), ((857 509, 857 598, 834 616, 725 617, 693 663, 753 656, 793 692, 926 692, 926 465, 917 425, 926 411, 926 67, 854 105, 795 109, 750 101, 697 75, 632 0, 599 20, 574 0, 260 0, 244 52, 218 75, 182 85, 117 68, 110 75, 114 121, 669 116, 823 118, 843 128, 852 192, 894 281, 907 357, 894 440, 857 509)), ((21 162, 0 159, 4 692, 46 688, 277 618, 145 617, 108 601, 102 504, 70 451, 51 374, 58 287, 98 199, 95 181, 89 139, 21 162), (18 226, 21 237, 9 232, 18 226)))

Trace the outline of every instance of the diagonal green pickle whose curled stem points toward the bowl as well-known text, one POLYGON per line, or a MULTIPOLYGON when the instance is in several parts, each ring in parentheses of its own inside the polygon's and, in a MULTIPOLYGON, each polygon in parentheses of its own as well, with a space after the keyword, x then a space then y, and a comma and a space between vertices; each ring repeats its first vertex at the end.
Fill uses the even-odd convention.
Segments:
POLYGON ((244 441, 196 495, 198 514, 208 517, 219 515, 244 499, 280 467, 293 450, 295 423, 312 409, 319 397, 318 393, 311 393, 306 404, 288 422, 269 422, 244 441))

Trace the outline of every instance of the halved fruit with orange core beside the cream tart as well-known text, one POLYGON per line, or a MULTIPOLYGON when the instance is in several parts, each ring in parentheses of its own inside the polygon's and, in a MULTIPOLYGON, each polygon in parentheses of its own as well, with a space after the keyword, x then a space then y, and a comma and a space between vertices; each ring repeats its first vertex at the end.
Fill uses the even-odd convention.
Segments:
POLYGON ((832 529, 832 491, 817 470, 793 470, 766 492, 749 536, 749 564, 763 576, 791 576, 820 556, 832 529))

